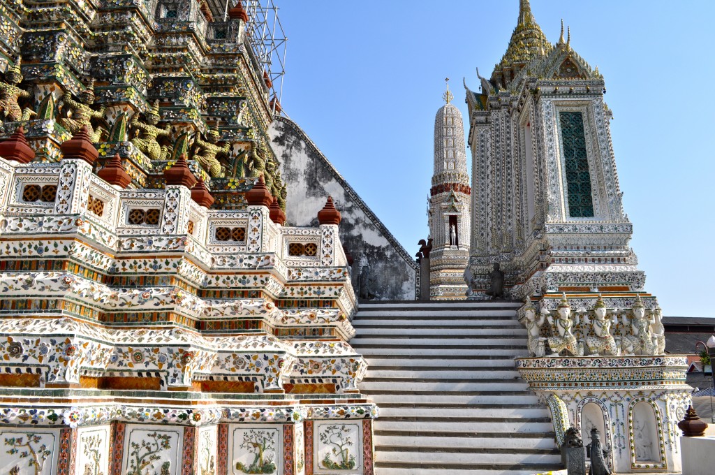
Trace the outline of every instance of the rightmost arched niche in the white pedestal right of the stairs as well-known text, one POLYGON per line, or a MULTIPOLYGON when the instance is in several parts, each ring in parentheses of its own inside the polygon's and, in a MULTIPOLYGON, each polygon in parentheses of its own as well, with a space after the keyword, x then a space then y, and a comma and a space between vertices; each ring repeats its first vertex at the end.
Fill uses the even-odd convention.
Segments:
POLYGON ((666 468, 662 418, 648 398, 636 398, 628 408, 631 466, 636 469, 666 468))

